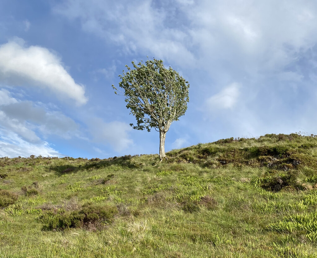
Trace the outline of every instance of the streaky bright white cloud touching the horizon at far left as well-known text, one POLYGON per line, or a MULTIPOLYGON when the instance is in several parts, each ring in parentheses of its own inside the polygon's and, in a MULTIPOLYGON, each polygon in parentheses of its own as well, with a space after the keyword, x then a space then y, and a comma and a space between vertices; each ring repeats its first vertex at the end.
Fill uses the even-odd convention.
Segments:
POLYGON ((30 155, 63 156, 47 142, 30 143, 16 133, 0 129, 0 157, 28 157, 30 155))

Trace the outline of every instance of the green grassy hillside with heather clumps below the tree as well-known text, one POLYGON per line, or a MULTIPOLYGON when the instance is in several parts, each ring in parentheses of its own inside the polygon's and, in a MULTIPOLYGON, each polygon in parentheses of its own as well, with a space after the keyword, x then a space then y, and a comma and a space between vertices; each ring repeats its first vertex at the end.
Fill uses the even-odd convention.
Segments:
POLYGON ((317 257, 317 136, 0 158, 0 257, 317 257))

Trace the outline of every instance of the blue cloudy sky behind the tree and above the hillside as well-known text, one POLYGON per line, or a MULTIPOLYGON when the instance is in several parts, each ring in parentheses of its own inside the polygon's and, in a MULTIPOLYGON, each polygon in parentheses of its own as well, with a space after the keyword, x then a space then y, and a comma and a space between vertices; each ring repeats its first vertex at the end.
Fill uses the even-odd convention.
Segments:
POLYGON ((316 28, 314 0, 1 0, 0 157, 158 153, 111 86, 147 56, 190 83, 165 151, 317 134, 316 28))

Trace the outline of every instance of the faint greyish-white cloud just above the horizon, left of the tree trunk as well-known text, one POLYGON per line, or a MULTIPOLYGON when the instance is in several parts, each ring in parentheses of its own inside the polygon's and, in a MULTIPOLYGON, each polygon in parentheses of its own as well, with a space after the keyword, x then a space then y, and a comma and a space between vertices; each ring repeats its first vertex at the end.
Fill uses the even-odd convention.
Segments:
POLYGON ((129 139, 128 131, 131 126, 123 122, 113 121, 105 123, 100 118, 91 119, 90 132, 94 137, 94 141, 98 143, 109 143, 117 152, 127 149, 133 144, 133 140, 129 139))

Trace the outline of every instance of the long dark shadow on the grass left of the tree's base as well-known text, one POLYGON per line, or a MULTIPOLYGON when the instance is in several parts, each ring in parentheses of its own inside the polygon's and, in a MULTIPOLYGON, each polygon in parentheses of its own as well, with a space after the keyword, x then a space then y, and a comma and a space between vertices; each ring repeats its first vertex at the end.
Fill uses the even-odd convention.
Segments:
POLYGON ((95 161, 94 159, 92 160, 87 160, 85 164, 81 164, 79 166, 72 166, 72 165, 60 165, 60 166, 50 166, 49 170, 50 171, 55 171, 55 173, 58 176, 68 174, 68 173, 77 173, 83 170, 87 169, 101 169, 104 167, 108 167, 111 165, 119 165, 122 168, 136 168, 136 164, 132 162, 131 158, 134 156, 131 155, 125 155, 122 157, 113 157, 109 159, 104 159, 104 160, 98 160, 95 161))

